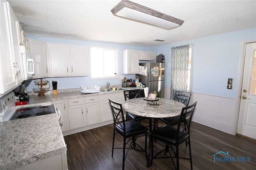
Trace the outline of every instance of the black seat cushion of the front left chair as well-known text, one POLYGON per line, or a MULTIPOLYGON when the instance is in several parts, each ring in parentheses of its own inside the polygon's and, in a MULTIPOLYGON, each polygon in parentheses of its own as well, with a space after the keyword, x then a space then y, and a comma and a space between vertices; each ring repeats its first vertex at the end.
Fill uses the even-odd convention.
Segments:
MULTIPOLYGON (((120 123, 118 125, 115 126, 116 131, 121 134, 122 136, 124 136, 124 130, 122 130, 123 123, 120 123)), ((130 137, 130 136, 136 136, 136 135, 140 135, 140 134, 144 134, 145 131, 148 130, 147 127, 145 127, 144 125, 136 122, 136 121, 126 121, 125 122, 125 128, 126 128, 126 137, 130 137)))

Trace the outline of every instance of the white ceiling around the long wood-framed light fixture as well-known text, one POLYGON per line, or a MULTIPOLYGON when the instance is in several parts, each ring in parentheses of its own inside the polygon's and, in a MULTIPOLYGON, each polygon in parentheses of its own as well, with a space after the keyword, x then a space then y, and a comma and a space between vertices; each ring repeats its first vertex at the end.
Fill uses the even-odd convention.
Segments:
POLYGON ((150 47, 256 27, 256 0, 130 0, 184 20, 174 30, 114 16, 110 10, 121 0, 7 1, 27 35, 150 47))

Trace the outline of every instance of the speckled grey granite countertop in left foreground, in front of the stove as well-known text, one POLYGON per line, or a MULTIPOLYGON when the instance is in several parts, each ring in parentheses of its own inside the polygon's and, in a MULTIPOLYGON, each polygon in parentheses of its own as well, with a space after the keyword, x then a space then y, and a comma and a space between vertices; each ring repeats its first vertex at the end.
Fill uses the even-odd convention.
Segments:
POLYGON ((57 114, 0 122, 0 169, 8 170, 67 151, 57 114))

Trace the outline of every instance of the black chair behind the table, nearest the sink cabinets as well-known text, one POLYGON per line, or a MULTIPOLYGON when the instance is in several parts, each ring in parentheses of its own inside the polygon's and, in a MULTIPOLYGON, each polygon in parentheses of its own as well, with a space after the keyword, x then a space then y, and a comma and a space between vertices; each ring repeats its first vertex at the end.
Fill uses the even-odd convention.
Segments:
MULTIPOLYGON (((134 98, 139 98, 140 97, 140 89, 134 89, 134 90, 124 90, 124 100, 127 101, 127 99, 134 99, 134 98)), ((132 113, 126 112, 126 121, 129 119, 134 120, 134 121, 140 121, 142 119, 147 119, 146 117, 140 117, 137 115, 134 115, 132 113)))

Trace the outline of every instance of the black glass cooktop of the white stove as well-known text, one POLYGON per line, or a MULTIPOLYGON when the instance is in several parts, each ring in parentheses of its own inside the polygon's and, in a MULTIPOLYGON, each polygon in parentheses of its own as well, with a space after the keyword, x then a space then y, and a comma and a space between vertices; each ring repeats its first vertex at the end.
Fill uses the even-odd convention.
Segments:
POLYGON ((47 115, 55 113, 54 105, 38 105, 38 106, 30 106, 30 107, 21 107, 16 110, 14 115, 12 115, 10 120, 22 119, 27 117, 34 117, 40 115, 47 115))

